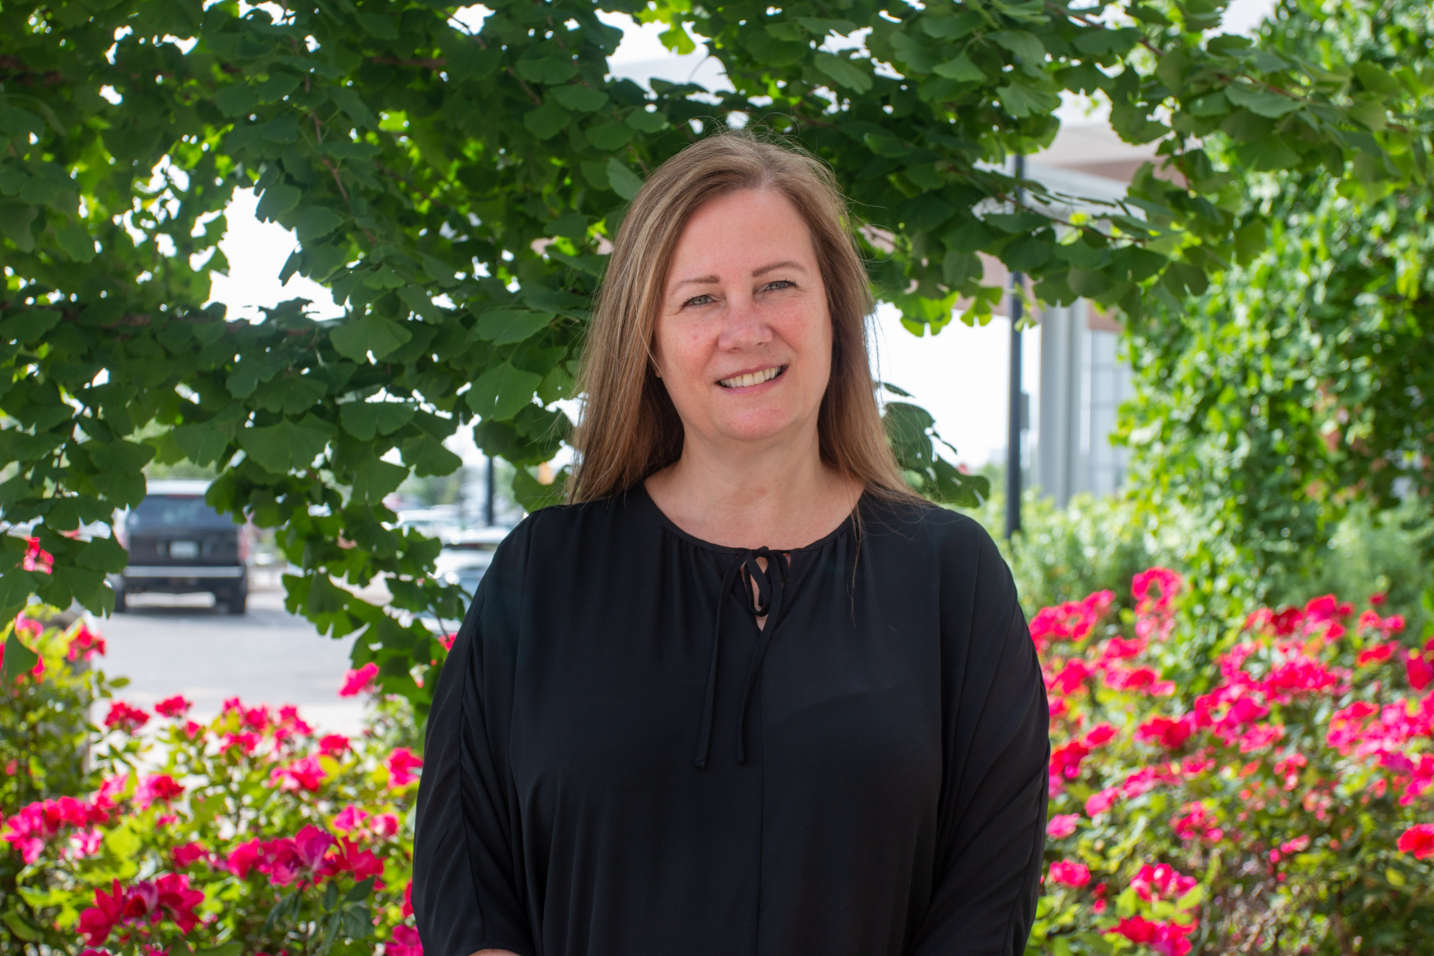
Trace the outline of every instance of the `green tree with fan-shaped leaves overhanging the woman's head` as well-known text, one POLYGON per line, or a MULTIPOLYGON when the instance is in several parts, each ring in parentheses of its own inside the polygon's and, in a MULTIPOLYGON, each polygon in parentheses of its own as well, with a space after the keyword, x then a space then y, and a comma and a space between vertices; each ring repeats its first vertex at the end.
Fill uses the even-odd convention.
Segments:
MULTIPOLYGON (((832 165, 891 236, 865 234, 872 279, 912 328, 959 297, 989 315, 981 251, 1047 301, 1133 317, 1203 291, 1266 235, 1200 145, 1216 130, 1255 168, 1425 175, 1424 75, 1217 34, 1217 0, 604 4, 667 23, 674 49, 695 34, 733 82, 718 95, 609 79, 619 32, 589 3, 492 6, 475 33, 424 0, 0 0, 0 519, 54 565, 27 570, 24 539, 0 536, 0 619, 32 593, 106 609, 123 550, 66 532, 133 505, 151 460, 186 459, 219 470, 215 506, 278 529, 303 570, 290 608, 361 631, 356 664, 422 711, 435 681, 414 677, 442 648, 393 612, 452 619, 459 595, 426 575, 436 542, 386 527, 383 496, 455 470, 443 439, 467 427, 519 466, 529 506, 561 493, 523 466, 568 427, 552 406, 602 242, 645 171, 734 113, 832 165), (865 46, 833 53, 833 34, 865 46), (1001 173, 1051 142, 1067 92, 1108 99, 1179 176, 1147 169, 1129 201, 1063 219, 1061 196, 1001 173), (326 284, 343 318, 204 308, 239 186, 298 235, 282 275, 326 284), (336 583, 380 573, 391 608, 336 583)), ((969 493, 929 416, 899 404, 891 424, 919 489, 969 493)))

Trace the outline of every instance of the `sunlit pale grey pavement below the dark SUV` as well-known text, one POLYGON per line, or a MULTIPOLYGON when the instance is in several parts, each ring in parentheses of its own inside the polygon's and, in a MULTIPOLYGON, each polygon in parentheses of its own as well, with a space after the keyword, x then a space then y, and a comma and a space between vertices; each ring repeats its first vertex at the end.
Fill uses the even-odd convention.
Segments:
POLYGON ((130 611, 96 622, 109 651, 96 664, 128 677, 120 695, 143 707, 172 694, 194 701, 195 720, 219 712, 224 701, 297 704, 314 727, 354 734, 360 698, 341 698, 353 638, 320 636, 284 611, 284 592, 250 592, 248 613, 224 615, 208 595, 135 595, 130 611))

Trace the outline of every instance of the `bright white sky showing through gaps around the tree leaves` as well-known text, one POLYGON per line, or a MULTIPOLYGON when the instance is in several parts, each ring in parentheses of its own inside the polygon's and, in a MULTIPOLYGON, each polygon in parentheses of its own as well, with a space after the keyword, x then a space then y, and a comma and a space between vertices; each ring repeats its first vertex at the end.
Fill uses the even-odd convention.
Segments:
MULTIPOLYGON (((1273 9, 1273 0, 1235 0, 1225 14, 1225 27, 1245 33, 1273 9)), ((467 7, 460 19, 476 29, 482 7, 467 7)), ((602 14, 602 20, 624 29, 622 44, 609 63, 614 73, 645 79, 661 75, 713 85, 720 72, 714 62, 703 63, 700 53, 674 57, 657 34, 658 24, 640 26, 624 14, 602 14), (624 69, 627 67, 627 69, 624 69)), ((228 234, 219 244, 229 259, 229 275, 214 277, 214 301, 229 307, 231 317, 257 318, 258 307, 277 305, 288 298, 314 301, 318 317, 340 315, 326 288, 301 277, 281 285, 278 272, 294 251, 294 234, 272 222, 254 218, 257 199, 251 191, 235 193, 227 211, 228 234)), ((882 380, 913 394, 936 419, 936 430, 956 446, 958 460, 978 466, 998 456, 1005 446, 1005 394, 1010 355, 1010 324, 994 320, 989 325, 968 328, 949 324, 936 337, 916 338, 896 321, 895 310, 882 307, 875 324, 875 364, 882 380)), ((1032 416, 1040 407, 1040 330, 1028 330, 1022 340, 1022 380, 1031 394, 1032 416)), ((1038 421, 1032 426, 1038 429, 1038 421)), ((467 437, 455 447, 476 463, 480 457, 467 437)))

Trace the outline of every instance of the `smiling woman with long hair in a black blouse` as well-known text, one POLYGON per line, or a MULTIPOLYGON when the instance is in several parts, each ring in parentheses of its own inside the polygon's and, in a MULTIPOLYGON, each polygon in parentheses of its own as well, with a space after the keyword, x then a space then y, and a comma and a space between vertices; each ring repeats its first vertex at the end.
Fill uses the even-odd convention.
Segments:
POLYGON ((1020 953, 1045 688, 1011 575, 882 433, 812 158, 726 133, 632 201, 572 505, 503 542, 437 684, 429 956, 1020 953))

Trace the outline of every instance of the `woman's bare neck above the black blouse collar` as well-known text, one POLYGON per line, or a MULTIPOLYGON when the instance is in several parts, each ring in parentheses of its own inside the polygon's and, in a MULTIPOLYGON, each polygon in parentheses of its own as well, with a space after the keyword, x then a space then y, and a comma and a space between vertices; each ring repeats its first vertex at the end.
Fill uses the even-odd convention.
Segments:
POLYGON ((810 441, 714 450, 685 441, 683 457, 647 479, 652 502, 688 535, 728 548, 792 549, 835 530, 862 494, 810 441))

